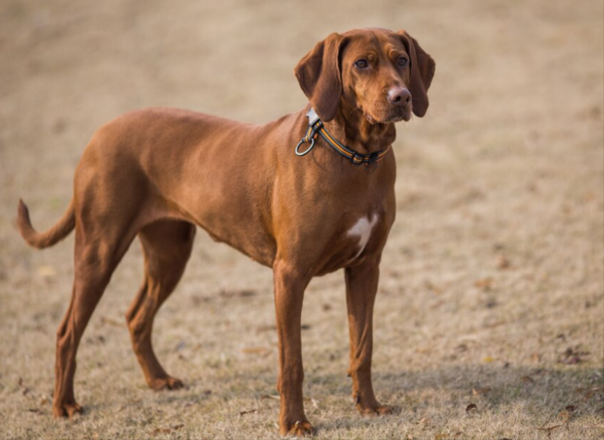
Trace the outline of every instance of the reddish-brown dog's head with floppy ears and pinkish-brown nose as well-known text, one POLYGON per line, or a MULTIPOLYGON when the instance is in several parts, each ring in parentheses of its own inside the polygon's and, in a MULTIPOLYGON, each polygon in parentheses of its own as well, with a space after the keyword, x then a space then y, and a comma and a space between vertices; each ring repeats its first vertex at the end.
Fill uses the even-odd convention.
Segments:
POLYGON ((331 34, 295 67, 300 87, 328 122, 343 103, 371 123, 408 121, 428 108, 436 64, 406 31, 360 29, 331 34))

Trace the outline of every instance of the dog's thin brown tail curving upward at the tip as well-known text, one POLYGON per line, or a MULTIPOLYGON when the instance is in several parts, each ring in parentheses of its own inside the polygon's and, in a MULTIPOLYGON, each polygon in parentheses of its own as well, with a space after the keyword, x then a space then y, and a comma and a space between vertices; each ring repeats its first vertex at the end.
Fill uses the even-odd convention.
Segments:
POLYGON ((73 228, 75 228, 75 203, 73 202, 73 199, 71 199, 69 207, 57 224, 52 226, 49 230, 39 233, 34 229, 34 226, 31 226, 27 205, 20 199, 19 208, 17 210, 17 226, 19 227, 19 232, 29 246, 37 247, 38 249, 52 246, 67 237, 73 228))

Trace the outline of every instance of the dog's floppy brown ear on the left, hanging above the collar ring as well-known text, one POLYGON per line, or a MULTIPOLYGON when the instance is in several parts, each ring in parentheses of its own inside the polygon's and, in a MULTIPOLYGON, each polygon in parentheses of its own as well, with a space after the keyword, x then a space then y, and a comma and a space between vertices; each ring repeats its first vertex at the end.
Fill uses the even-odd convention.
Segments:
POLYGON ((334 119, 341 101, 339 55, 343 40, 341 35, 331 34, 304 55, 294 69, 300 88, 325 122, 334 119))

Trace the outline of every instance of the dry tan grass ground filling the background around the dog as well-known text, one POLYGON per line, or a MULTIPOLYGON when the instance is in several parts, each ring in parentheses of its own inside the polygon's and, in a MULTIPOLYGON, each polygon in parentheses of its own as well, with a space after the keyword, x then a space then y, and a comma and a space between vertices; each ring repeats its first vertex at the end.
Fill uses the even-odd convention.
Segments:
POLYGON ((374 386, 398 411, 355 413, 343 280, 316 279, 303 342, 318 437, 603 437, 603 3, 324 3, 1 3, 1 438, 278 437, 270 270, 203 234, 155 330, 188 388, 147 390, 131 353, 134 246, 80 349, 87 413, 53 420, 73 237, 27 249, 15 208, 22 196, 50 226, 91 133, 126 110, 265 122, 301 108, 302 54, 331 31, 375 25, 406 27, 438 66, 427 117, 399 127, 399 212, 376 306, 374 386))

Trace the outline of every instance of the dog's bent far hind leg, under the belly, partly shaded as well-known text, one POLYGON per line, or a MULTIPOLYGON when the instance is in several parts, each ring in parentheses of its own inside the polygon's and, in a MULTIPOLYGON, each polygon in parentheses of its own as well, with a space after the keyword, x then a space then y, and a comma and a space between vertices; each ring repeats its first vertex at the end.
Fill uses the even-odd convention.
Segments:
POLYGON ((181 388, 182 381, 165 372, 153 351, 153 320, 174 291, 191 255, 195 226, 185 221, 159 221, 143 228, 145 279, 126 313, 132 347, 150 388, 181 388))

